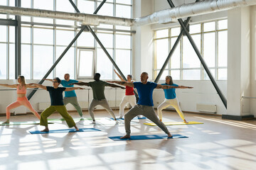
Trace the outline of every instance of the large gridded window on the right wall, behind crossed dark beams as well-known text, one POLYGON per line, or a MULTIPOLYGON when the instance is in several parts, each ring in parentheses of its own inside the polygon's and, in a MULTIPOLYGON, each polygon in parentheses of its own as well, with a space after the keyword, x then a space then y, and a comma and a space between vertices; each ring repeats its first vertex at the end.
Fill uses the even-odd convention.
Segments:
MULTIPOLYGON (((228 67, 228 21, 198 23, 189 29, 193 41, 203 56, 208 69, 215 79, 227 79, 228 67)), ((154 76, 156 77, 177 40, 181 28, 154 31, 154 76)), ((208 80, 208 74, 198 59, 191 42, 183 36, 167 64, 164 74, 173 79, 208 80)))

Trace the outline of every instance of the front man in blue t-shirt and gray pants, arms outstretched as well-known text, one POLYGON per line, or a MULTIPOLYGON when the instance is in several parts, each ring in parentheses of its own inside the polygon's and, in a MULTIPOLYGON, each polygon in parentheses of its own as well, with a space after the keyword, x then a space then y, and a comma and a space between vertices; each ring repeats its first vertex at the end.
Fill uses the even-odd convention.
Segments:
POLYGON ((127 135, 121 137, 122 139, 129 138, 131 134, 131 120, 137 115, 144 115, 146 118, 154 122, 156 125, 161 128, 168 137, 172 137, 169 130, 166 128, 166 125, 162 123, 159 118, 157 117, 156 113, 154 112, 154 104, 153 104, 153 91, 154 89, 171 89, 175 88, 173 86, 163 86, 161 84, 156 84, 151 81, 147 81, 149 76, 146 72, 143 72, 140 76, 141 81, 127 83, 125 81, 108 81, 116 84, 121 84, 123 86, 130 86, 137 89, 139 94, 139 101, 136 106, 131 108, 125 115, 124 115, 124 125, 125 131, 127 135))

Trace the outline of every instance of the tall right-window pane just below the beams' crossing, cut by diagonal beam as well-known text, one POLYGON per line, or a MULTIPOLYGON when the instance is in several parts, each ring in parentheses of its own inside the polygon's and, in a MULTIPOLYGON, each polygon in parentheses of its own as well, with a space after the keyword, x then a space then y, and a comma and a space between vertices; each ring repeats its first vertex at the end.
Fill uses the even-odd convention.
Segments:
MULTIPOLYGON (((201 35, 192 35, 198 50, 201 51, 201 35)), ((183 37, 183 68, 196 68, 200 67, 201 62, 198 60, 195 50, 188 38, 183 37)))

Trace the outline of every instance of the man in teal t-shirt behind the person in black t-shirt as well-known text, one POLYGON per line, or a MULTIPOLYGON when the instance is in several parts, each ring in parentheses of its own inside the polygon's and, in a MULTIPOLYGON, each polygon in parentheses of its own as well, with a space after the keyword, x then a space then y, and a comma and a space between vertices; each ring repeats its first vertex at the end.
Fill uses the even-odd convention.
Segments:
MULTIPOLYGON (((46 79, 49 81, 52 81, 52 79, 46 79)), ((78 83, 81 81, 77 81, 74 79, 70 79, 70 74, 65 74, 64 75, 64 80, 60 81, 60 84, 63 85, 63 87, 73 87, 74 85, 68 85, 68 84, 73 84, 73 83, 78 83)), ((75 109, 78 111, 78 114, 80 115, 80 120, 84 120, 84 118, 82 117, 82 108, 79 106, 78 103, 78 97, 75 94, 75 91, 65 91, 65 96, 63 98, 63 103, 66 106, 68 103, 72 104, 75 109)))

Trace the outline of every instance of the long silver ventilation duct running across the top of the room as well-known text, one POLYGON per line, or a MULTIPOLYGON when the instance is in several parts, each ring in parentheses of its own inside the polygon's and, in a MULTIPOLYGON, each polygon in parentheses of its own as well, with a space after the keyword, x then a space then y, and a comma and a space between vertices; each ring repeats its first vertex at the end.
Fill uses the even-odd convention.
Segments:
POLYGON ((0 13, 18 16, 36 16, 44 18, 78 21, 82 25, 98 26, 100 23, 117 26, 144 26, 153 23, 176 22, 178 18, 198 16, 206 13, 225 11, 231 8, 256 5, 256 0, 207 0, 191 4, 183 4, 175 8, 157 11, 149 16, 140 18, 119 18, 113 16, 99 16, 87 13, 67 13, 48 11, 35 8, 20 8, 14 6, 0 6, 0 13))

